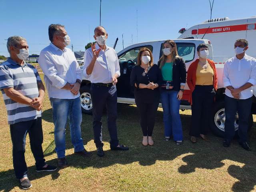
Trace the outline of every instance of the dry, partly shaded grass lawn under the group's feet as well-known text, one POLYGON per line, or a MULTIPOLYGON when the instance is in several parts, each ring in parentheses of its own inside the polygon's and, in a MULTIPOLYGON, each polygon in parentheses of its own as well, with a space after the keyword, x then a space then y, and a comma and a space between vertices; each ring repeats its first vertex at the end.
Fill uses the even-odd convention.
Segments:
MULTIPOLYGON (((42 76, 42 75, 41 75, 42 76)), ((6 108, 0 96, 0 191, 22 191, 12 166, 12 142, 6 108)), ((154 128, 154 146, 142 146, 138 110, 134 105, 118 105, 118 137, 128 151, 111 151, 103 117, 105 156, 96 155, 93 142, 92 116, 83 114, 82 138, 93 156, 74 154, 70 132, 66 129, 66 158, 70 167, 56 172, 37 173, 27 136, 26 162, 33 187, 29 191, 44 192, 251 192, 256 191, 256 124, 250 132, 251 152, 236 141, 222 147, 222 139, 209 134, 210 142, 199 139, 192 144, 188 136, 191 111, 180 111, 184 144, 164 141, 162 108, 158 108, 154 128)), ((49 164, 57 164, 54 152, 54 125, 48 97, 43 108, 43 150, 49 164)), ((254 116, 256 121, 256 116, 254 116)))

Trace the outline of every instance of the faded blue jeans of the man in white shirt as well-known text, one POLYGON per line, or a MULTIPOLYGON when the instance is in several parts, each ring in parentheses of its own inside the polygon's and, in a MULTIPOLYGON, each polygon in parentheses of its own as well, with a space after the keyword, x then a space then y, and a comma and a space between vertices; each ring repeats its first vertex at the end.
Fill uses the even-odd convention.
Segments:
POLYGON ((69 120, 71 142, 74 145, 74 151, 84 150, 83 140, 81 138, 82 111, 80 98, 75 99, 57 99, 50 98, 53 110, 54 122, 54 141, 55 151, 58 158, 65 157, 65 130, 66 123, 69 120))

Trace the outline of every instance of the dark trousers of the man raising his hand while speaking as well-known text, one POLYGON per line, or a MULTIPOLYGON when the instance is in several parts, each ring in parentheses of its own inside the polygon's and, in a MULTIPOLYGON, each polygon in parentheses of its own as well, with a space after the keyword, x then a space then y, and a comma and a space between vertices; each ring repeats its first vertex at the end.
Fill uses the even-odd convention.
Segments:
POLYGON ((116 118, 117 118, 117 93, 116 86, 91 86, 92 92, 92 115, 94 143, 96 147, 103 146, 102 143, 102 113, 107 108, 108 113, 108 132, 110 134, 110 146, 116 147, 119 144, 117 138, 116 118))

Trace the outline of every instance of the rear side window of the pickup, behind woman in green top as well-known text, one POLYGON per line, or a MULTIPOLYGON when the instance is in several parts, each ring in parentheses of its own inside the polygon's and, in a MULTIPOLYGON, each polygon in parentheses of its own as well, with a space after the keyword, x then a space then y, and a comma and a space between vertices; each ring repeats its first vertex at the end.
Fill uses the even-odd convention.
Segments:
MULTIPOLYGON (((185 62, 190 62, 194 59, 196 46, 194 43, 176 43, 178 55, 181 56, 185 62)), ((163 54, 164 44, 161 45, 160 56, 163 54)))

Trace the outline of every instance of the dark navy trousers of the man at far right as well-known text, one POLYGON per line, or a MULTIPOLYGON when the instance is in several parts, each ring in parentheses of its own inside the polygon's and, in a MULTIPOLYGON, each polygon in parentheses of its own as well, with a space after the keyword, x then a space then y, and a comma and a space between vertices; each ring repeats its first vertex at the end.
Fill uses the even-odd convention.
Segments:
POLYGON ((234 121, 236 112, 238 112, 239 142, 247 141, 248 120, 252 107, 252 97, 248 99, 234 99, 225 95, 225 138, 232 140, 235 135, 234 121))

